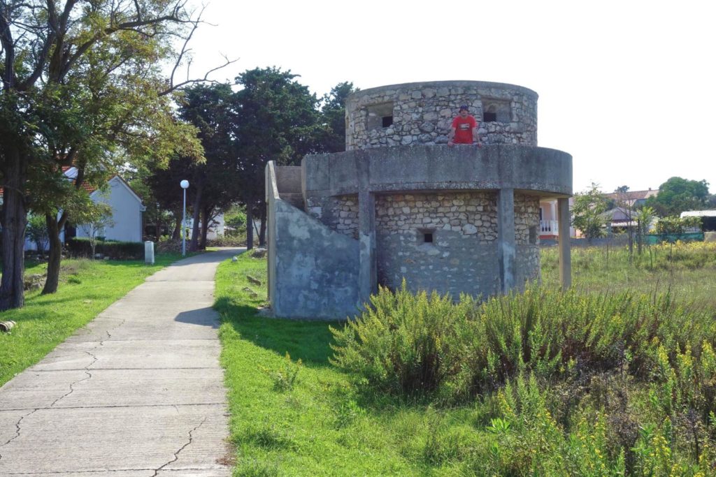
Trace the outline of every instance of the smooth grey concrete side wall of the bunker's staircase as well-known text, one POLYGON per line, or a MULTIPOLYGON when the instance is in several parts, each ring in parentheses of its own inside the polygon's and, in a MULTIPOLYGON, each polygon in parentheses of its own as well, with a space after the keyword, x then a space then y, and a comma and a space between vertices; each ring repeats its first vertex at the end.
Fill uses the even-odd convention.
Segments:
POLYGON ((269 300, 282 318, 342 320, 359 310, 358 241, 330 230, 279 195, 266 166, 269 300))

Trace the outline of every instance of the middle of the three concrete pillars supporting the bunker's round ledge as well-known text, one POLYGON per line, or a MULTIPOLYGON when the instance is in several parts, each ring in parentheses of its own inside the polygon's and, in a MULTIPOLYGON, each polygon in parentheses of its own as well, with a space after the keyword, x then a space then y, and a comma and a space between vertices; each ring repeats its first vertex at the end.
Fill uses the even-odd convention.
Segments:
POLYGON ((506 293, 515 287, 515 190, 500 189, 497 201, 497 243, 500 285, 506 293))

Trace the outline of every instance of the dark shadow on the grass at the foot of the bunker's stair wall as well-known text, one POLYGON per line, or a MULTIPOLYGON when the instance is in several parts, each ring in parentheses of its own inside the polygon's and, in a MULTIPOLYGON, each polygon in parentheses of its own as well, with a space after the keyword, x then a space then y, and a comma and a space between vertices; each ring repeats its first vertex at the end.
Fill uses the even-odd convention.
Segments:
POLYGON ((238 305, 227 297, 218 298, 214 308, 221 313, 222 323, 229 323, 244 340, 279 355, 289 353, 292 360, 300 358, 304 365, 329 365, 333 355, 329 326, 342 328, 344 323, 264 318, 256 315, 256 308, 238 305))

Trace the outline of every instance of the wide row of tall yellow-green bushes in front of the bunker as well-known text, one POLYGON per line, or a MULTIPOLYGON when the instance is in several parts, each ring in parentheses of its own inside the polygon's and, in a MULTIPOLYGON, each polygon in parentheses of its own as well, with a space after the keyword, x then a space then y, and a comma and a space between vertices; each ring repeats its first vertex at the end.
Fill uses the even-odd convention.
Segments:
POLYGON ((675 366, 685 347, 699 355, 713 347, 713 321, 712 310, 690 310, 668 294, 530 287, 453 303, 404 285, 382 288, 357 320, 332 329, 332 362, 382 393, 456 402, 520 373, 553 378, 627 368, 649 380, 664 353, 675 366))

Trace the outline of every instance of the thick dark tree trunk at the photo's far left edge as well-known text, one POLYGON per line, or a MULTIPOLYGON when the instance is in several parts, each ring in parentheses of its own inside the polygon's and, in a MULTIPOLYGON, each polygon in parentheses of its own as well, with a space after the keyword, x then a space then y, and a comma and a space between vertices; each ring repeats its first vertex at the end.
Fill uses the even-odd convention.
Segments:
POLYGON ((2 280, 0 311, 21 308, 25 304, 25 227, 27 209, 24 190, 26 161, 12 144, 4 144, 4 189, 2 208, 2 280))

